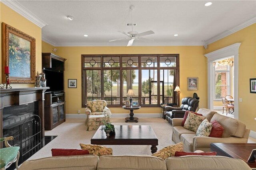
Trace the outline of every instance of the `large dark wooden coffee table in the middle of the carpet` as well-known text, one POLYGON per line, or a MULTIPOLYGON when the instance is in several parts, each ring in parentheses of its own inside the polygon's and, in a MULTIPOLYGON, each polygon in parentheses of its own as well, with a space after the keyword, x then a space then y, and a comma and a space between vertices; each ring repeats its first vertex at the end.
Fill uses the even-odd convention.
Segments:
POLYGON ((157 151, 158 139, 150 125, 115 125, 116 135, 106 136, 98 128, 91 139, 96 145, 152 145, 151 152, 157 151))

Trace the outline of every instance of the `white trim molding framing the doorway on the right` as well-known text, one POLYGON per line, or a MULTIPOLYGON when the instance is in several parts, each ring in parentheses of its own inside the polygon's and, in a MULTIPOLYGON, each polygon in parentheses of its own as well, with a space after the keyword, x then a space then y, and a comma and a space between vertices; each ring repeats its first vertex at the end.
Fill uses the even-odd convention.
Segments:
POLYGON ((234 118, 238 119, 238 57, 239 57, 239 47, 241 43, 235 43, 224 47, 222 49, 218 49, 211 53, 205 54, 207 57, 207 65, 208 65, 208 108, 213 110, 213 99, 214 99, 214 67, 213 62, 226 59, 228 57, 234 56, 234 105, 236 106, 234 109, 234 118))

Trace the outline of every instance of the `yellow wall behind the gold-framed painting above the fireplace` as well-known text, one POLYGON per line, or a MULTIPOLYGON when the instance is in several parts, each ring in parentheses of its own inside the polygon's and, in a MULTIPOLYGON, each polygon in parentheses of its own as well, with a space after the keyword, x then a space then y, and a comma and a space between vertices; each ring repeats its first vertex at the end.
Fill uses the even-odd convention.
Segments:
MULTIPOLYGON (((11 25, 12 27, 34 37, 36 39, 36 72, 39 73, 42 65, 42 31, 41 28, 27 20, 20 14, 14 12, 12 9, 0 3, 0 21, 1 21, 1 35, 2 35, 2 22, 11 25)), ((2 42, 1 42, 2 43, 2 42)), ((1 46, 2 48, 2 46, 1 46)), ((1 53, 2 59, 2 53, 1 53)), ((2 70, 2 60, 0 61, 0 68, 2 70)), ((1 74, 2 76, 2 74, 1 74)), ((36 76, 36 75, 34 75, 36 76)), ((13 88, 23 88, 23 87, 35 87, 34 84, 12 84, 13 88)))

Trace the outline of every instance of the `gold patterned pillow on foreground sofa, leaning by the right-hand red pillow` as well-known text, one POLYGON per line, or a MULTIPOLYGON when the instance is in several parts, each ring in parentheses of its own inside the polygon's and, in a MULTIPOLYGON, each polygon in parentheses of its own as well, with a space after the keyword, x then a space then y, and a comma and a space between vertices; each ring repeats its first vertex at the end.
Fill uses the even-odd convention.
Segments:
POLYGON ((158 152, 152 154, 152 156, 166 159, 171 156, 174 156, 175 152, 177 151, 179 152, 183 151, 183 142, 177 143, 175 145, 170 145, 168 147, 164 147, 163 149, 160 149, 158 152))

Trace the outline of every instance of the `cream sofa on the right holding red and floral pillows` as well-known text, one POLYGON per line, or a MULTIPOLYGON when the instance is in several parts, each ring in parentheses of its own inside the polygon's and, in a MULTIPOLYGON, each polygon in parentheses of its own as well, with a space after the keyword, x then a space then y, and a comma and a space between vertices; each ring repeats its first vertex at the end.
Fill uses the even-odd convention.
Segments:
POLYGON ((175 143, 183 142, 185 152, 194 152, 195 150, 210 151, 210 143, 247 143, 250 129, 237 119, 218 114, 209 109, 199 109, 209 122, 218 121, 224 127, 222 138, 199 137, 196 133, 185 129, 181 123, 183 118, 172 119, 172 141, 175 143))

